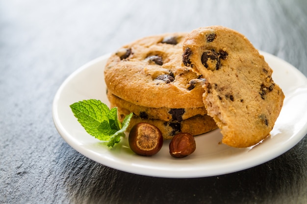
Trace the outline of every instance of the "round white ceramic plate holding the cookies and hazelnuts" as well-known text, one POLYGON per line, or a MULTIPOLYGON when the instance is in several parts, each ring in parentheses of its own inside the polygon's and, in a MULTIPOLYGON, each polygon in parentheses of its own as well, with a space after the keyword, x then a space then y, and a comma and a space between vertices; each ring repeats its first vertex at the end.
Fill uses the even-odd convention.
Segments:
POLYGON ((307 133, 307 78, 281 59, 261 52, 273 68, 273 79, 285 94, 284 105, 271 136, 253 148, 219 144, 219 130, 196 136, 196 151, 186 158, 169 155, 169 141, 153 157, 135 155, 127 136, 114 148, 88 135, 73 115, 70 105, 85 99, 109 104, 103 69, 109 55, 93 60, 70 75, 57 91, 53 121, 64 140, 82 155, 114 169, 154 177, 195 178, 227 174, 274 159, 297 144, 307 133))

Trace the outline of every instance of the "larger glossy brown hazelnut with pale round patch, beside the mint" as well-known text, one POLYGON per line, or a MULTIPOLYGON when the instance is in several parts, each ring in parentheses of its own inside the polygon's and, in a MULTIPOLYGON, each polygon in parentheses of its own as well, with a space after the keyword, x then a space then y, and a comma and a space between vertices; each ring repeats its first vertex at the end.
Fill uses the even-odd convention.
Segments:
POLYGON ((130 149, 134 153, 142 156, 152 156, 162 148, 163 136, 154 125, 141 122, 132 127, 128 142, 130 149))

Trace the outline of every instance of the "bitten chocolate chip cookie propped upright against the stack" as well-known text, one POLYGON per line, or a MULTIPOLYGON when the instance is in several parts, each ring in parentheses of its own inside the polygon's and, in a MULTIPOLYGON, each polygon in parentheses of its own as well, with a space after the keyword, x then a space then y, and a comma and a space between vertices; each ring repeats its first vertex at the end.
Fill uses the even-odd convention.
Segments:
POLYGON ((206 79, 203 101, 223 143, 248 147, 269 135, 284 95, 245 36, 222 26, 195 29, 183 42, 182 63, 206 79))

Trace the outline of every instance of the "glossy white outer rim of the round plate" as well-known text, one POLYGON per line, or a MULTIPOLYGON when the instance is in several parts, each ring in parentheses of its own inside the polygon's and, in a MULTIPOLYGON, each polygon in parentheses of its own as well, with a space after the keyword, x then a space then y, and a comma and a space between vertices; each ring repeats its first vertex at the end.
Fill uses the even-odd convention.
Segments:
MULTIPOLYGON (((297 68, 295 68, 294 66, 292 66, 291 64, 287 63, 286 61, 270 54, 264 51, 259 51, 260 54, 262 54, 264 57, 270 57, 273 58, 274 60, 279 61, 280 63, 283 63, 285 65, 287 65, 289 68, 291 68, 291 70, 295 71, 295 75, 298 75, 301 77, 301 79, 305 80, 305 84, 307 85, 307 78, 306 76, 297 68)), ((216 172, 211 172, 211 173, 195 173, 193 175, 187 175, 185 172, 180 172, 180 171, 175 171, 176 173, 174 174, 174 172, 164 172, 163 174, 160 173, 160 171, 157 171, 155 173, 152 172, 144 172, 144 169, 151 169, 152 167, 145 167, 143 166, 140 169, 127 169, 125 168, 125 166, 121 166, 121 162, 119 161, 110 161, 110 160, 103 160, 105 162, 102 162, 101 159, 98 159, 98 157, 93 157, 93 155, 95 155, 96 153, 93 151, 88 151, 83 149, 82 147, 76 145, 74 143, 74 141, 71 141, 68 139, 68 137, 66 136, 67 134, 70 135, 65 127, 63 126, 63 124, 59 123, 59 114, 57 113, 57 103, 60 100, 60 93, 63 91, 63 89, 66 87, 66 85, 74 78, 77 76, 77 74, 79 74, 80 72, 82 72, 83 70, 89 68, 90 66, 93 66, 97 63, 100 63, 103 60, 107 60, 109 58, 109 56, 111 55, 111 53, 102 55, 86 64, 84 64, 83 66, 81 66, 80 68, 77 68, 73 73, 71 73, 64 81, 63 83, 60 85, 59 89, 56 91, 56 94, 54 96, 53 102, 52 102, 52 119, 53 119, 53 123, 55 125, 55 128, 57 129, 58 133, 60 134, 60 136, 71 146, 73 147, 77 152, 79 152, 80 154, 84 155, 85 157, 92 159, 98 163, 101 163, 102 165, 108 166, 110 168, 113 169, 117 169, 120 171, 124 171, 124 172, 128 172, 128 173, 133 173, 133 174, 138 174, 138 175, 144 175, 144 176, 152 176, 152 177, 160 177, 160 178, 200 178, 200 177, 209 177, 209 176, 218 176, 218 175, 224 175, 224 174, 229 174, 229 173, 233 173, 233 172, 237 172, 237 171, 241 171, 244 169, 248 169, 248 168, 252 168, 254 166, 260 165, 262 163, 265 163, 271 159, 275 159, 276 157, 280 156, 281 154, 285 153, 286 151, 288 151, 289 149, 293 148, 307 133, 307 126, 305 125, 304 128, 302 128, 300 130, 300 133, 297 133, 297 136, 295 137, 295 139, 291 139, 291 145, 288 146, 288 148, 286 149, 282 149, 282 151, 277 151, 275 152, 274 155, 271 155, 271 157, 268 157, 267 159, 260 159, 260 161, 258 162, 250 162, 248 165, 245 164, 244 166, 241 166, 241 168, 236 168, 235 170, 233 169, 229 169, 228 171, 224 170, 224 171, 216 171, 216 172), (222 172, 222 173, 221 173, 222 172)), ((100 156, 98 154, 98 156, 100 156)), ((258 159, 259 160, 259 159, 258 159)))

